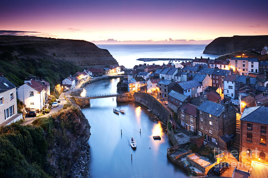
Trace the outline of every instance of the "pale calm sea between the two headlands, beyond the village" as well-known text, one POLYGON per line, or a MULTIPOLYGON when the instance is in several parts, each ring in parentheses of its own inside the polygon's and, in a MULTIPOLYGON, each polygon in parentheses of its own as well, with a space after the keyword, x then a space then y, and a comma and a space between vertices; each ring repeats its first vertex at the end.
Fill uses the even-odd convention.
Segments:
MULTIPOLYGON (((195 57, 215 59, 216 55, 202 54, 206 45, 97 45, 107 49, 117 60, 119 65, 133 68, 134 65, 143 64, 138 58, 189 58, 195 57)), ((168 61, 152 61, 147 64, 167 64, 168 61)))

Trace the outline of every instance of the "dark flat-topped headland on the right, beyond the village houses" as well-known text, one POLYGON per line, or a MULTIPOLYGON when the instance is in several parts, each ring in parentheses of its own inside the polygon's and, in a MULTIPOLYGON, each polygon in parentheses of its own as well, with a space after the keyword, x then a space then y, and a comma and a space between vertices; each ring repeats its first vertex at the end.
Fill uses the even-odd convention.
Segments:
POLYGON ((268 35, 219 37, 209 43, 203 53, 223 55, 249 48, 263 48, 267 41, 268 35))

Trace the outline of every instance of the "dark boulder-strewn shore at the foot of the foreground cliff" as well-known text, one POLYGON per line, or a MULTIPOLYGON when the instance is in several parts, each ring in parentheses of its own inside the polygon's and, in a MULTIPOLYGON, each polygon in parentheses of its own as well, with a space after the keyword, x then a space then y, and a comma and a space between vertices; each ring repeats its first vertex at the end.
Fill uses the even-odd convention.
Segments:
POLYGON ((68 178, 86 178, 90 176, 90 170, 87 167, 87 162, 90 159, 89 149, 90 146, 86 142, 83 150, 80 152, 78 160, 72 166, 68 178))

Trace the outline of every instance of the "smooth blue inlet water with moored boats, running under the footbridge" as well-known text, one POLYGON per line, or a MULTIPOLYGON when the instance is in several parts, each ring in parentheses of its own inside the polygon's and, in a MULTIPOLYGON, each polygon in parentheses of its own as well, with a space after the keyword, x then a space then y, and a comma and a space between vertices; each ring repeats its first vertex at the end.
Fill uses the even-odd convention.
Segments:
MULTIPOLYGON (((118 81, 119 78, 91 83, 81 95, 116 92, 118 81)), ((167 159, 166 149, 172 143, 166 128, 160 121, 152 121, 153 115, 145 107, 135 102, 116 102, 116 97, 90 102, 91 107, 83 107, 82 112, 91 125, 91 177, 188 177, 167 159), (115 114, 113 108, 124 108, 126 112, 115 114), (154 140, 155 135, 161 140, 154 140), (129 144, 132 136, 137 141, 135 150, 129 144)))

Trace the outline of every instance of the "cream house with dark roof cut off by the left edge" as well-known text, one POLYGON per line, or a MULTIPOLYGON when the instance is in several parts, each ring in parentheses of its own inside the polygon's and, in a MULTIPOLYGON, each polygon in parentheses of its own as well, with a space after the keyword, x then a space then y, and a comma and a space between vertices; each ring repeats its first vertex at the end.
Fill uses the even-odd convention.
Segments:
POLYGON ((22 119, 18 114, 16 86, 0 74, 0 126, 22 119))

